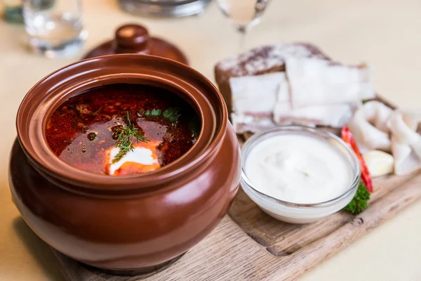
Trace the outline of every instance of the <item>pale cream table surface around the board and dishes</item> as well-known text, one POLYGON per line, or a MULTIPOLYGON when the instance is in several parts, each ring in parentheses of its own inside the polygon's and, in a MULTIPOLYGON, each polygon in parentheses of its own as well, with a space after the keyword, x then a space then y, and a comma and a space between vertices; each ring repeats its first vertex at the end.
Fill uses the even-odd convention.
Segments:
MULTIPOLYGON (((0 7, 1 9, 1 7, 0 7)), ((62 280, 48 247, 20 218, 8 191, 8 155, 15 113, 25 93, 46 74, 78 60, 126 22, 182 48, 192 67, 213 80, 216 61, 239 51, 240 37, 215 4, 200 17, 162 19, 128 15, 116 0, 84 0, 89 38, 74 58, 48 60, 28 53, 22 25, 0 22, 0 280, 62 280)), ((421 1, 272 0, 246 48, 309 41, 344 63, 373 65, 375 89, 401 107, 421 105, 421 1)), ((302 280, 421 280, 421 202, 333 256, 302 280)), ((233 265, 234 266, 234 265, 233 265)))

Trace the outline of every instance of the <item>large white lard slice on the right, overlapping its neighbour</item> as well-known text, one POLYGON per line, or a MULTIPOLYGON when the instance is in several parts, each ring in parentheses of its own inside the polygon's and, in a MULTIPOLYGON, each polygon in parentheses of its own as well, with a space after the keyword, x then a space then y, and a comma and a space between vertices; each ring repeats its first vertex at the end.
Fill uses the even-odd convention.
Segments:
POLYGON ((367 65, 347 66, 321 58, 286 58, 294 108, 348 103, 358 105, 375 97, 367 65))

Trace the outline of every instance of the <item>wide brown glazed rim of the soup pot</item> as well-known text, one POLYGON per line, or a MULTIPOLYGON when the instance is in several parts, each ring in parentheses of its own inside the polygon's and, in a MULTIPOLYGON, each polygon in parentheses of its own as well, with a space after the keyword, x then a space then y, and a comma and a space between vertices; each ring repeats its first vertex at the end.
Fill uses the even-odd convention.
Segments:
POLYGON ((210 80, 175 60, 154 55, 104 55, 62 67, 36 83, 20 104, 16 128, 20 145, 37 170, 70 184, 70 187, 76 185, 88 190, 121 192, 155 187, 206 162, 218 150, 225 134, 227 107, 210 80), (107 83, 110 81, 114 83, 107 83), (86 89, 127 81, 143 81, 146 83, 132 84, 161 86, 185 95, 182 98, 193 103, 201 117, 201 133, 193 147, 175 162, 156 171, 115 177, 77 169, 54 155, 45 139, 46 122, 53 111, 69 97, 86 89))

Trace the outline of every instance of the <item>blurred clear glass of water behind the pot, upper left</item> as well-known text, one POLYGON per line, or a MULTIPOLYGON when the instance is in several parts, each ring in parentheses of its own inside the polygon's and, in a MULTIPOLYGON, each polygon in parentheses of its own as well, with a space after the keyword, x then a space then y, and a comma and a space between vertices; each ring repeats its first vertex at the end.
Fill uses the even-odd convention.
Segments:
POLYGON ((48 58, 73 55, 87 37, 81 0, 23 0, 23 18, 29 47, 48 58))

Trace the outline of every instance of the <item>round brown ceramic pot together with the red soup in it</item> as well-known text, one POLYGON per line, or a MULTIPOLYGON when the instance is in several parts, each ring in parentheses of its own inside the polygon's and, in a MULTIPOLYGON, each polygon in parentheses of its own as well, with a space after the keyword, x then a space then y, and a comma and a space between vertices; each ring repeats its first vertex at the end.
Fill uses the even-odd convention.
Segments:
POLYGON ((54 249, 115 274, 148 273, 215 228, 239 187, 222 96, 186 65, 108 55, 48 75, 25 96, 13 201, 54 249))

